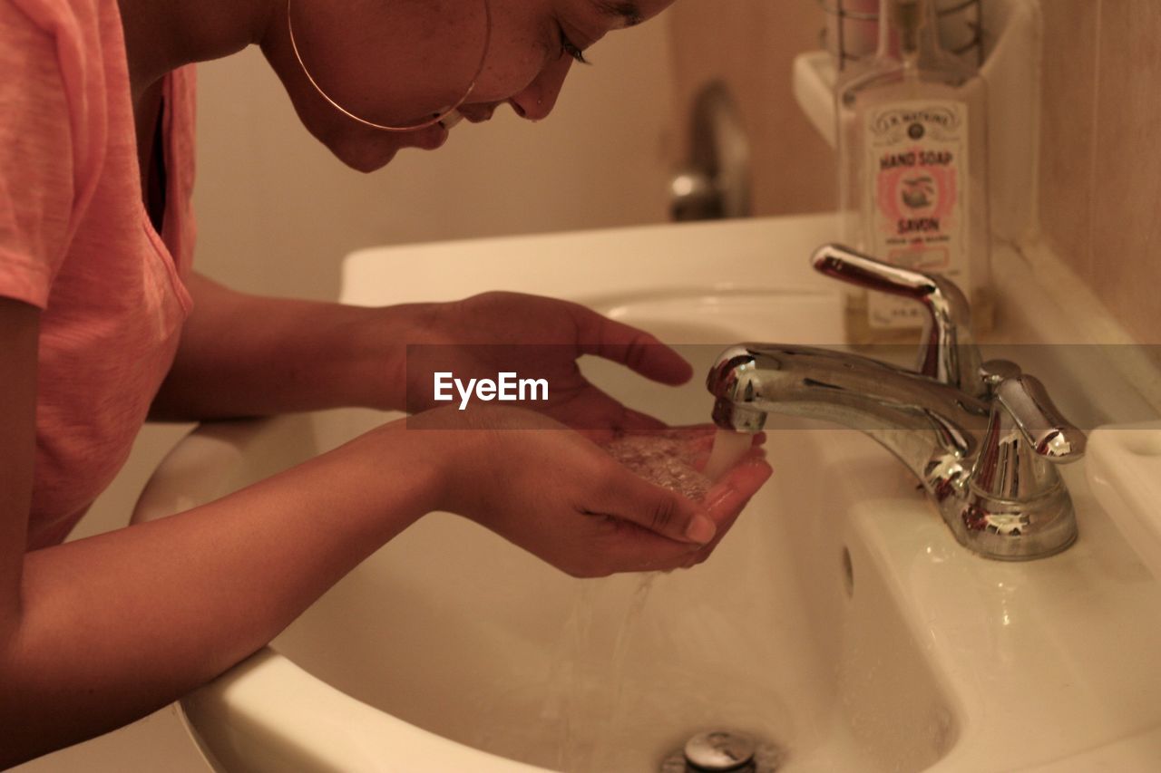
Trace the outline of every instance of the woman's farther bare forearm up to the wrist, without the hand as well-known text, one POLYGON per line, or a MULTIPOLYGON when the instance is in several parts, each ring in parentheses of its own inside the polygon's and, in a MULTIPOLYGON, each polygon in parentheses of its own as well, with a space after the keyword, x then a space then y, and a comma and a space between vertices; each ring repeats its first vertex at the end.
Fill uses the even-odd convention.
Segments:
POLYGON ((403 407, 408 331, 428 306, 268 298, 197 274, 189 291, 194 311, 151 419, 403 407))

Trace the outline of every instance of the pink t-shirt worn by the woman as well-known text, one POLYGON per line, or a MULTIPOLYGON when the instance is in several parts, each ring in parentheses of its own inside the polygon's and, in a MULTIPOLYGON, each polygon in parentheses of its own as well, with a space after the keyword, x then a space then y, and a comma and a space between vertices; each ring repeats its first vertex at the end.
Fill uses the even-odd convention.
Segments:
POLYGON ((29 548, 124 463, 189 313, 192 68, 165 80, 163 130, 158 234, 116 0, 0 0, 0 295, 43 310, 29 548))

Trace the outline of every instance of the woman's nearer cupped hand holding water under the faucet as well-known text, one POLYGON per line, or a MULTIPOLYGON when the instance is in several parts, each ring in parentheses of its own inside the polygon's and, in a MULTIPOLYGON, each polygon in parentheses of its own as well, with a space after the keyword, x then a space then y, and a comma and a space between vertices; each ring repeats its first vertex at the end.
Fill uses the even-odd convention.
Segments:
POLYGON ((575 577, 705 561, 770 476, 755 451, 695 503, 639 477, 542 414, 489 406, 406 419, 441 470, 438 508, 464 515, 575 577))

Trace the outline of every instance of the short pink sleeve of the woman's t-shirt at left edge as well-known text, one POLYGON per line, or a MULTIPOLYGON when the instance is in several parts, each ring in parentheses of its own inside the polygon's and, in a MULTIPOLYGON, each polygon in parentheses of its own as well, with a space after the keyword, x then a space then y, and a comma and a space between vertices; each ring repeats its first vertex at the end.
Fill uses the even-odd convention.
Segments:
POLYGON ((68 97, 52 32, 0 0, 0 296, 45 308, 75 195, 68 97))

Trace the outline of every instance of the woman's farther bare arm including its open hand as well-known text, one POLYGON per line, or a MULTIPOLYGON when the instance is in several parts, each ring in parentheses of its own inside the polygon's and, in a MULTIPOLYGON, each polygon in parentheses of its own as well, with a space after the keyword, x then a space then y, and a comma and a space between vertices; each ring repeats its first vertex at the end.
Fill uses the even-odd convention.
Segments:
POLYGON ((438 352, 438 369, 450 367, 462 377, 535 371, 551 383, 551 399, 538 410, 578 428, 661 426, 590 384, 577 367, 582 355, 666 384, 692 375, 677 352, 649 333, 553 298, 483 292, 453 303, 366 309, 253 296, 201 276, 190 281, 190 291, 194 312, 152 419, 340 405, 412 413, 435 407, 425 370, 431 362, 420 356, 409 374, 412 344, 427 345, 427 355, 438 352))

